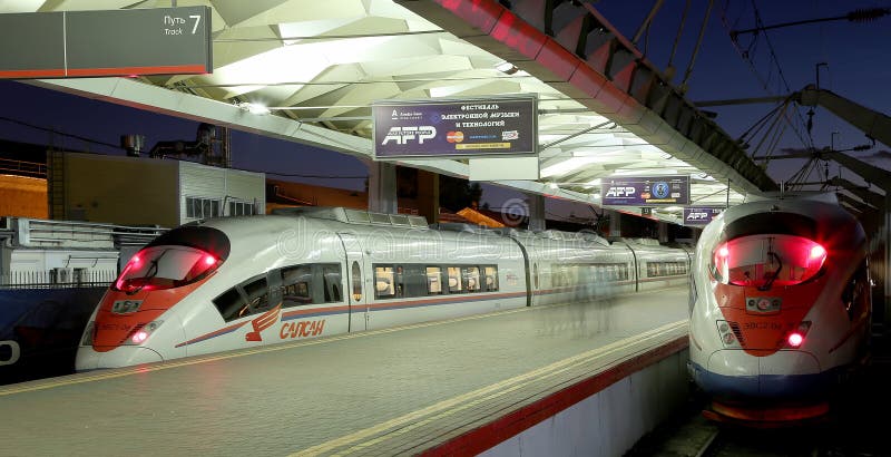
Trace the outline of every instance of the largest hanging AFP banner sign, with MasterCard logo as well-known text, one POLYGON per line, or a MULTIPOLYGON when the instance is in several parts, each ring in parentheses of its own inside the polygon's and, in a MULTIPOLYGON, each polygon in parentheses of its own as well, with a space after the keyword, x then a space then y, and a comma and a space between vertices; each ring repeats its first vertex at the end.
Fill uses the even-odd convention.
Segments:
POLYGON ((372 105, 374 158, 530 156, 538 153, 538 100, 384 100, 372 105))

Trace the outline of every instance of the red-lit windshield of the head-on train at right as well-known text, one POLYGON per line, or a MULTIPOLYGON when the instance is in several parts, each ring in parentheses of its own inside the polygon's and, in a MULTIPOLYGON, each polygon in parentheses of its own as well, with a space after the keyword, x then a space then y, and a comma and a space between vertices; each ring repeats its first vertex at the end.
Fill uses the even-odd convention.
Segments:
POLYGON ((796 235, 750 235, 718 244, 711 271, 724 284, 770 290, 814 278, 826 261, 819 243, 796 235))

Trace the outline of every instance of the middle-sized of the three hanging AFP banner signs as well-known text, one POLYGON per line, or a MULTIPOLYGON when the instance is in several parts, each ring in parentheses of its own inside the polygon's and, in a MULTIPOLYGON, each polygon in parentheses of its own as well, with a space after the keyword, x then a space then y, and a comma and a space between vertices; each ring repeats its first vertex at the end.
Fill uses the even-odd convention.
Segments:
POLYGON ((600 183, 606 206, 689 204, 689 176, 621 176, 600 183))

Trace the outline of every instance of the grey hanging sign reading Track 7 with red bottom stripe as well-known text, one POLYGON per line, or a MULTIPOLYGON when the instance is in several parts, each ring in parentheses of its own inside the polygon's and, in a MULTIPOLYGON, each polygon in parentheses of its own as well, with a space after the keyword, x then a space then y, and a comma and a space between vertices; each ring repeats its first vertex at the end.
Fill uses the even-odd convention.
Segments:
POLYGON ((0 78, 212 71, 209 7, 0 14, 0 78))

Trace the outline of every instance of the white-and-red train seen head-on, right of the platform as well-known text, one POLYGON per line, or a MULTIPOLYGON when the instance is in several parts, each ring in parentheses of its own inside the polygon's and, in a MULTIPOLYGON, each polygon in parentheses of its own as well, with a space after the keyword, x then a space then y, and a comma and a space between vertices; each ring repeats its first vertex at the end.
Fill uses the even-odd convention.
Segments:
POLYGON ((703 231, 691 280, 689 369, 708 417, 822 416, 870 336, 866 237, 834 194, 756 197, 703 231))

